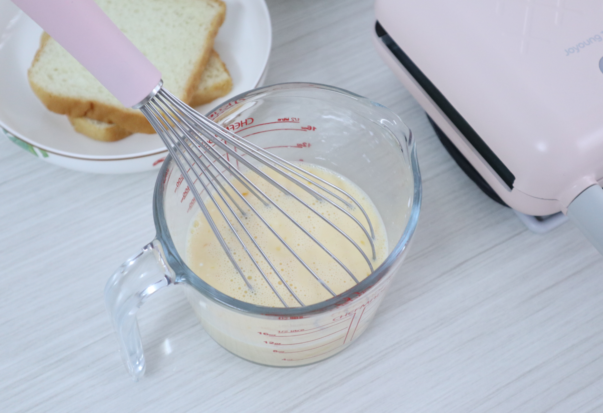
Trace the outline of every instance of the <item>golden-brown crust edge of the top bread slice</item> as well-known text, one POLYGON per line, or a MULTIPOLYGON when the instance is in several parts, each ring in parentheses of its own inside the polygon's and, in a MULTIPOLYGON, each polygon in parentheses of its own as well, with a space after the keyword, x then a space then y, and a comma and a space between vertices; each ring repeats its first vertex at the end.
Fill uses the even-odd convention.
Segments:
MULTIPOLYGON (((203 70, 205 69, 210 54, 212 53, 213 39, 218 33, 218 29, 224 22, 224 17, 226 16, 226 4, 224 4, 223 1, 207 1, 216 4, 216 6, 219 8, 219 11, 218 14, 216 14, 216 17, 213 19, 212 26, 210 26, 207 33, 207 48, 198 58, 196 69, 191 73, 191 76, 189 76, 188 85, 185 87, 185 92, 182 99, 185 103, 191 101, 195 90, 197 90, 201 80, 201 75, 203 75, 203 70)), ((55 113, 66 114, 69 117, 89 117, 90 119, 99 120, 101 122, 114 123, 115 125, 134 133, 155 133, 153 126, 151 126, 144 114, 142 114, 139 110, 125 108, 123 106, 117 107, 114 105, 104 104, 102 102, 73 98, 71 96, 55 95, 54 93, 45 90, 45 88, 43 88, 41 85, 36 84, 36 82, 31 79, 30 73, 32 68, 39 60, 40 54, 42 53, 44 46, 46 46, 48 43, 49 38, 50 37, 48 34, 42 34, 42 37, 40 37, 40 48, 36 52, 31 67, 28 70, 30 86, 33 92, 40 99, 40 101, 42 101, 45 107, 48 108, 48 110, 55 113)))

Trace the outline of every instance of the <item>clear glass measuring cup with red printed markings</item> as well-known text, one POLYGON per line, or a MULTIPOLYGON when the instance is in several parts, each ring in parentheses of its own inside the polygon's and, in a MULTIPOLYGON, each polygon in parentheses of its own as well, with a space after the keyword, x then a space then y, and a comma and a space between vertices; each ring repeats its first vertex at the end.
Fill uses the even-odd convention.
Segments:
POLYGON ((336 87, 291 83, 243 93, 208 116, 285 160, 317 164, 355 182, 383 219, 389 255, 350 290, 313 305, 273 308, 233 299, 198 278, 182 258, 199 208, 168 157, 153 197, 156 238, 122 264, 105 288, 134 380, 145 370, 136 311, 154 291, 172 284, 185 286, 203 328, 235 355, 282 367, 335 355, 367 328, 417 225, 421 179, 414 140, 384 106, 336 87))

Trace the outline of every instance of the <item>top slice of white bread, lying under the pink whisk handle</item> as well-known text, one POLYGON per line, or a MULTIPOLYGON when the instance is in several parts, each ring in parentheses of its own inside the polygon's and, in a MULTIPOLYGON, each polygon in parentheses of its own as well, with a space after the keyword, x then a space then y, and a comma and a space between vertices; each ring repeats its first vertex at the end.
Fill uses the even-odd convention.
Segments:
MULTIPOLYGON (((162 72, 172 94, 190 102, 224 21, 220 0, 96 0, 128 39, 162 72)), ((153 133, 139 110, 125 108, 53 39, 42 39, 28 71, 46 107, 72 117, 153 133)))

